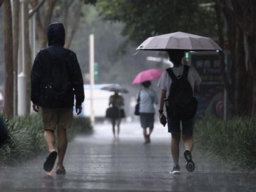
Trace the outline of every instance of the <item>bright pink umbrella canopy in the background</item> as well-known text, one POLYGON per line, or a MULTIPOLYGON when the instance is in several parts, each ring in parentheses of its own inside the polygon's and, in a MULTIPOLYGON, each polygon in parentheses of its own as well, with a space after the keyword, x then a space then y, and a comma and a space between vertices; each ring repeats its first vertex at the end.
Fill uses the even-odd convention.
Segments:
POLYGON ((154 80, 161 77, 163 71, 159 69, 148 69, 145 71, 141 71, 135 79, 133 80, 132 84, 141 84, 147 80, 154 80))

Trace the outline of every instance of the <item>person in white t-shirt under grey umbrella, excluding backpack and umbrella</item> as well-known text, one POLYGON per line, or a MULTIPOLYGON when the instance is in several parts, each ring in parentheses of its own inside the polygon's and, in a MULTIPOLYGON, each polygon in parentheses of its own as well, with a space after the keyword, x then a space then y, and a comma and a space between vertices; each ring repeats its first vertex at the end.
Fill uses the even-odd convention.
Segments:
MULTIPOLYGON (((170 50, 168 51, 169 60, 173 63, 173 67, 171 68, 175 76, 182 76, 184 65, 182 65, 182 58, 184 56, 184 51, 182 50, 170 50)), ((197 73, 196 69, 193 66, 190 66, 188 69, 187 80, 191 85, 193 92, 199 93, 200 87, 199 84, 201 82, 201 78, 197 73)), ((169 74, 165 70, 160 77, 158 82, 158 87, 162 88, 161 96, 160 96, 160 109, 159 109, 159 119, 163 124, 165 121, 165 117, 163 115, 163 106, 165 104, 164 99, 166 99, 170 93, 170 87, 172 84, 172 79, 169 77, 169 74)), ((171 174, 180 174, 180 166, 179 166, 179 143, 180 137, 182 133, 182 139, 185 146, 185 151, 183 155, 187 161, 186 168, 188 171, 194 171, 194 162, 192 160, 192 149, 193 149, 193 126, 194 126, 194 118, 191 119, 173 119, 169 115, 167 115, 168 122, 168 132, 171 133, 171 154, 174 161, 174 167, 171 174), (182 124, 182 129, 180 127, 182 124), (182 131, 181 131, 182 130, 182 131)))

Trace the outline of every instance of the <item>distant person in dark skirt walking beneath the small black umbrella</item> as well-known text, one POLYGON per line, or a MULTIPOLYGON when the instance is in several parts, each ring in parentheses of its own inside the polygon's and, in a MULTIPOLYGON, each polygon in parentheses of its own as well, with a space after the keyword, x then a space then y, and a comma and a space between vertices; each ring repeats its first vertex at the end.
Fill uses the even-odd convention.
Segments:
POLYGON ((112 123, 112 131, 113 131, 114 138, 117 138, 119 140, 120 124, 121 124, 122 118, 124 118, 123 96, 121 96, 121 94, 119 94, 118 92, 115 92, 112 96, 110 96, 108 105, 113 109, 114 108, 116 109, 115 115, 113 115, 110 118, 110 121, 112 123), (117 129, 115 129, 115 127, 117 129))

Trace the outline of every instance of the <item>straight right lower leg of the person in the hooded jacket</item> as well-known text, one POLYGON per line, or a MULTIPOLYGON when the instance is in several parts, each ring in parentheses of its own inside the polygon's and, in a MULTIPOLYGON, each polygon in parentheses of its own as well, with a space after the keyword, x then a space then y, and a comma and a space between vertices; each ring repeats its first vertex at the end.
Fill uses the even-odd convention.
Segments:
POLYGON ((66 137, 66 129, 57 129, 58 134, 58 154, 59 162, 57 166, 62 169, 63 160, 66 154, 66 148, 68 146, 68 138, 66 137))

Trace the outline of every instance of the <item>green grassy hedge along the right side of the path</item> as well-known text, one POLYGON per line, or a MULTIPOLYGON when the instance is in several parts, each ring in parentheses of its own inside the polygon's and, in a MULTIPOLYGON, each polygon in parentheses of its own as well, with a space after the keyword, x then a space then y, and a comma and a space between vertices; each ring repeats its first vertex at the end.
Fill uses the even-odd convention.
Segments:
POLYGON ((256 175, 256 118, 203 119, 195 124, 196 148, 241 174, 256 175))

